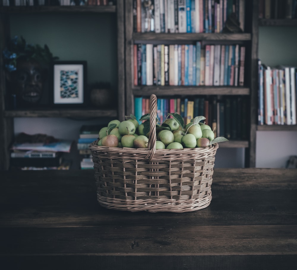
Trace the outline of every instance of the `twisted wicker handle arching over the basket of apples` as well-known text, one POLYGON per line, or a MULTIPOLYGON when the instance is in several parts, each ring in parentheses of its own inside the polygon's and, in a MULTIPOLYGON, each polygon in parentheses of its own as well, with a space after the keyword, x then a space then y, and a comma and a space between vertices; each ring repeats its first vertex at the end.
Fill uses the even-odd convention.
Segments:
POLYGON ((149 162, 154 157, 156 152, 156 118, 157 118, 157 96, 152 94, 150 98, 150 126, 149 126, 149 142, 148 149, 149 153, 143 160, 148 160, 149 162))

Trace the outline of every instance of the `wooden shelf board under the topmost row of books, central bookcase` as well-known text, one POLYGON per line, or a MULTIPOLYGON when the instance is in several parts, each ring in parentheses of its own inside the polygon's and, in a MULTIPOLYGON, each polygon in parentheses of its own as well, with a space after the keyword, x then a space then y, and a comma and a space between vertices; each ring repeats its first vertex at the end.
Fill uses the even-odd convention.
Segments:
POLYGON ((251 40, 250 33, 133 33, 133 39, 151 41, 151 40, 231 40, 247 41, 251 40))

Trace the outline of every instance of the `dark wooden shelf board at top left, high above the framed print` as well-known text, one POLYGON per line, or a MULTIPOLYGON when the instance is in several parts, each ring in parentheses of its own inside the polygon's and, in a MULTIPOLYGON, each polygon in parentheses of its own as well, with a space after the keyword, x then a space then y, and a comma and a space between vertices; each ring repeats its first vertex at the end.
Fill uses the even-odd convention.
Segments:
POLYGON ((116 6, 18 6, 0 7, 1 13, 115 13, 116 6))

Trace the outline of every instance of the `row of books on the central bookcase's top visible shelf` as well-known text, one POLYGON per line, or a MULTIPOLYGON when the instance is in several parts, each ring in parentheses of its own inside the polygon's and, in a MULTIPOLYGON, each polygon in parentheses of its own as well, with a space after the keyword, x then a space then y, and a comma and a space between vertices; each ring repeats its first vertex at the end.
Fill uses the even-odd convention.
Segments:
POLYGON ((135 32, 220 33, 231 13, 244 30, 245 0, 134 0, 135 32))

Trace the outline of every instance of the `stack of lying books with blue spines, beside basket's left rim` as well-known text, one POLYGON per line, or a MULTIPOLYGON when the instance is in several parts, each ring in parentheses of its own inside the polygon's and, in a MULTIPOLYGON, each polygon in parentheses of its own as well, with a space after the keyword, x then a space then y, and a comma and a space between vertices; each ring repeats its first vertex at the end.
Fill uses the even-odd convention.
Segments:
POLYGON ((81 169, 94 168, 89 145, 90 143, 98 139, 99 131, 101 128, 102 126, 98 125, 83 125, 79 130, 77 149, 79 151, 79 154, 83 156, 82 160, 80 161, 81 169))

